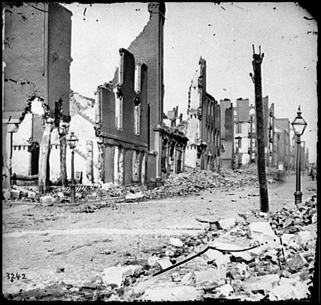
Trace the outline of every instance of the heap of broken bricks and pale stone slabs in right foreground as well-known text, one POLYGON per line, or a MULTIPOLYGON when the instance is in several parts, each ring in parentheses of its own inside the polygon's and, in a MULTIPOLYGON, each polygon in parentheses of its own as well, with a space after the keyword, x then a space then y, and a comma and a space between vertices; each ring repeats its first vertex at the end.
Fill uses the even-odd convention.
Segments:
POLYGON ((316 203, 314 195, 277 212, 220 220, 198 236, 169 238, 148 260, 105 268, 100 283, 113 300, 308 299, 316 203))

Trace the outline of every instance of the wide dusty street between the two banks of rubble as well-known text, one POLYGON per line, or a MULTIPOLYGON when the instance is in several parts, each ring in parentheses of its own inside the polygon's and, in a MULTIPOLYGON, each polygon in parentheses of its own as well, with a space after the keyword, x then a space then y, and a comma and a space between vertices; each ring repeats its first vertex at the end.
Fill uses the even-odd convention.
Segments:
MULTIPOLYGON (((271 211, 294 201, 294 186, 295 175, 269 184, 271 211)), ((308 191, 313 189, 316 182, 303 175, 303 201, 316 193, 308 191)), ((169 237, 205 232, 209 225, 195 218, 211 221, 258 210, 257 195, 254 187, 207 190, 186 197, 115 203, 92 213, 79 212, 77 206, 4 205, 3 293, 45 289, 62 281, 81 287, 108 266, 147 260, 166 247, 169 237), (58 268, 64 272, 57 272, 58 268), (11 281, 8 273, 23 273, 25 279, 11 281)), ((169 274, 164 273, 158 282, 170 281, 169 274)))

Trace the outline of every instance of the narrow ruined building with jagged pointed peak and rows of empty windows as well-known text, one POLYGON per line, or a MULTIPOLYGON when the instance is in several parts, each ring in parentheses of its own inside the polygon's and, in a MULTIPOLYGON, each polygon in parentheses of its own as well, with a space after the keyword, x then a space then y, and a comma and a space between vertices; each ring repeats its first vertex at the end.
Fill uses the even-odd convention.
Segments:
POLYGON ((185 169, 214 171, 222 152, 220 105, 206 90, 206 60, 198 66, 189 88, 185 169))

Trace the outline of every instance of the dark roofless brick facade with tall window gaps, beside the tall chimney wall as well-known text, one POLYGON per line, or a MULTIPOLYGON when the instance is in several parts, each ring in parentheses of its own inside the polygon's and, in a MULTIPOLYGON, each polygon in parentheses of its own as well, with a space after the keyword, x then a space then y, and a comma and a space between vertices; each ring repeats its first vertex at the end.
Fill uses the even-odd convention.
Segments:
POLYGON ((111 84, 105 84, 95 93, 100 179, 117 185, 144 183, 148 152, 147 66, 139 62, 136 67, 133 54, 125 49, 120 50, 117 84, 115 92, 111 84))

